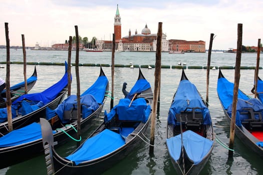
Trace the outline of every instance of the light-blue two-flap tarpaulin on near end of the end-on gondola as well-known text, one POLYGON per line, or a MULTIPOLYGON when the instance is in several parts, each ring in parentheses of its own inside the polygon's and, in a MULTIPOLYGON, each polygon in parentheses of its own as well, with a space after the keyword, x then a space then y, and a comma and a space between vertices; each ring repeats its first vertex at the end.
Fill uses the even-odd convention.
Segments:
MULTIPOLYGON (((169 154, 176 161, 181 154, 181 134, 166 139, 169 154)), ((209 152, 213 141, 209 140, 201 135, 186 130, 183 132, 183 146, 187 153, 187 156, 194 162, 194 164, 200 163, 205 155, 209 152)))

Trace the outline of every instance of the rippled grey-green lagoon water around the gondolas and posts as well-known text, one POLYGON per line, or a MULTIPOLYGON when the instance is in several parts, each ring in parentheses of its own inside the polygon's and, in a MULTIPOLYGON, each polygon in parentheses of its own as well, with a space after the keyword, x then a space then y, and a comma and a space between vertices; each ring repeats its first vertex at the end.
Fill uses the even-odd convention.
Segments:
MULTIPOLYGON (((211 66, 234 66, 235 54, 213 52, 211 55, 211 66)), ((64 62, 67 60, 67 51, 39 51, 27 50, 28 62, 64 62)), ((0 49, 0 61, 6 61, 6 50, 0 49)), ((22 50, 11 50, 11 61, 23 61, 22 50)), ((72 52, 72 62, 75 62, 75 52, 72 52)), ((115 53, 115 64, 155 64, 155 52, 117 52, 115 53)), ((177 65, 178 62, 187 65, 206 66, 207 53, 185 53, 168 54, 162 53, 162 65, 177 65)), ((105 63, 111 64, 111 52, 80 52, 80 63, 105 63)), ((242 53, 242 66, 255 66, 256 54, 242 53)), ((262 64, 260 64, 262 66, 262 64)), ((80 66, 80 85, 81 92, 88 88, 99 74, 99 67, 80 66)), ((34 65, 27 66, 27 75, 33 73, 34 65)), ((103 67, 109 82, 111 82, 111 67, 103 67)), ((64 66, 60 65, 37 65, 38 81, 30 92, 39 92, 64 74, 64 66)), ((154 88, 154 68, 142 68, 144 76, 154 88)), ((224 76, 234 80, 234 69, 223 69, 224 76)), ((203 97, 206 96, 206 69, 186 69, 186 75, 194 83, 203 97)), ((239 88, 249 94, 253 84, 252 69, 240 70, 239 88)), ((5 77, 6 68, 0 68, 0 76, 5 77)), ((75 67, 72 67, 72 93, 76 93, 75 67)), ((165 145, 166 138, 166 119, 168 109, 171 104, 172 96, 178 86, 181 76, 180 69, 162 68, 161 70, 161 104, 160 115, 156 119, 155 128, 155 147, 154 156, 149 156, 149 146, 142 144, 134 150, 123 161, 104 172, 108 174, 176 174, 168 151, 165 145)), ((212 116, 214 132, 224 142, 229 142, 229 125, 224 118, 222 107, 216 94, 218 70, 210 70, 209 83, 209 110, 212 116)), ((259 70, 259 76, 263 77, 262 70, 259 70)), ((121 92, 122 83, 127 82, 129 91, 138 77, 138 68, 115 67, 114 78, 114 104, 117 104, 119 98, 123 98, 121 92)), ((11 85, 24 79, 23 64, 11 64, 11 85)), ((111 85, 110 85, 111 90, 111 85)), ((110 108, 110 98, 107 99, 104 109, 110 108)), ((104 110, 103 109, 103 110, 104 110)), ((83 137, 87 136, 97 125, 103 121, 103 117, 94 120, 93 125, 83 137)), ((228 150, 215 142, 211 157, 202 170, 201 174, 263 174, 261 158, 246 147, 237 137, 234 140, 234 154, 232 159, 228 159, 228 150)), ((75 142, 69 141, 60 148, 58 152, 62 155, 69 154, 76 148, 75 142)), ((15 158, 15 157, 14 157, 15 158)), ((5 161, 1 157, 1 161, 5 161)), ((44 155, 40 155, 31 160, 0 169, 0 174, 46 174, 44 155)))

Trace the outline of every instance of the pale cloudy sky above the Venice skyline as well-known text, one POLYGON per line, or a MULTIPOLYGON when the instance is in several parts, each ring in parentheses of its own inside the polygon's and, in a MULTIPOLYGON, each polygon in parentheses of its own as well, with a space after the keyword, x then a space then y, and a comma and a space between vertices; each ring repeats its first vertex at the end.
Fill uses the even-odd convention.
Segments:
MULTIPOLYGON (((147 24, 157 33, 158 23, 166 39, 203 40, 212 49, 236 48, 237 24, 242 23, 242 45, 257 46, 263 35, 263 0, 1 0, 0 45, 51 46, 76 35, 91 41, 112 40, 117 4, 122 37, 138 33, 147 24)), ((261 41, 262 43, 262 41, 261 41)))

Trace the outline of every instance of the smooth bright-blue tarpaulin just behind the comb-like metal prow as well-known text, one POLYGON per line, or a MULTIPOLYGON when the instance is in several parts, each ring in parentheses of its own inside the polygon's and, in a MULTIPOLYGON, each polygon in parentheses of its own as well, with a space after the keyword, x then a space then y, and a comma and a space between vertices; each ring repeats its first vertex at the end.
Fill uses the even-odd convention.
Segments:
POLYGON ((125 144, 124 138, 109 129, 87 139, 76 152, 67 156, 68 160, 79 164, 106 155, 125 144))

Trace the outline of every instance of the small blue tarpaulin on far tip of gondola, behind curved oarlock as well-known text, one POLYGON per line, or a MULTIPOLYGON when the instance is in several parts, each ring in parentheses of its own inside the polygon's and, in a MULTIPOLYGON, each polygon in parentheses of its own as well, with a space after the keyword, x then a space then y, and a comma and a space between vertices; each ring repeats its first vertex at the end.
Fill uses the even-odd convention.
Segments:
POLYGON ((132 87, 131 91, 128 93, 128 95, 125 96, 125 98, 132 99, 135 93, 141 93, 147 90, 148 88, 151 88, 151 85, 146 79, 138 79, 132 87))

